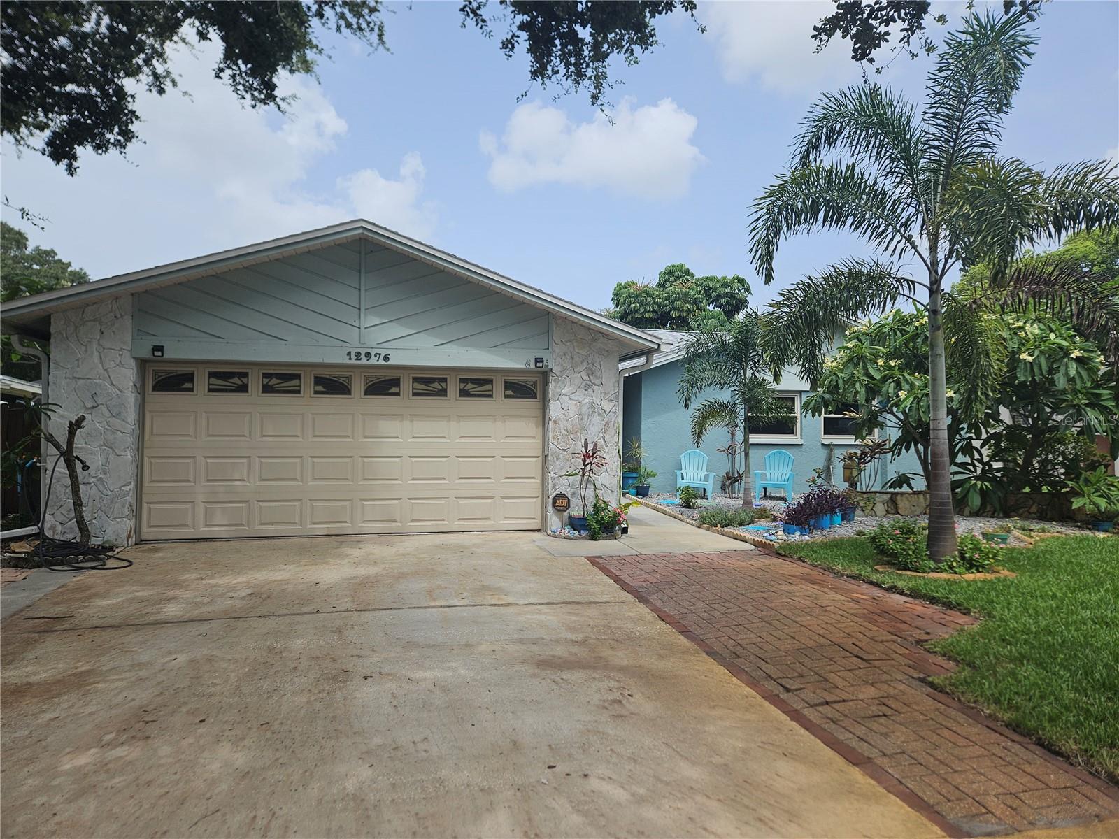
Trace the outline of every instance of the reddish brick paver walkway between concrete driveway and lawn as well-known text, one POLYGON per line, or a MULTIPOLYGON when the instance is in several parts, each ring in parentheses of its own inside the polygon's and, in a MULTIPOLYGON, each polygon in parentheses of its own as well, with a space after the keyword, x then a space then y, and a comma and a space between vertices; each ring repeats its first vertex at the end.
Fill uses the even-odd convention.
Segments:
POLYGON ((1119 816, 1119 790, 924 684, 952 664, 920 642, 966 615, 761 550, 590 562, 950 835, 1119 816))

